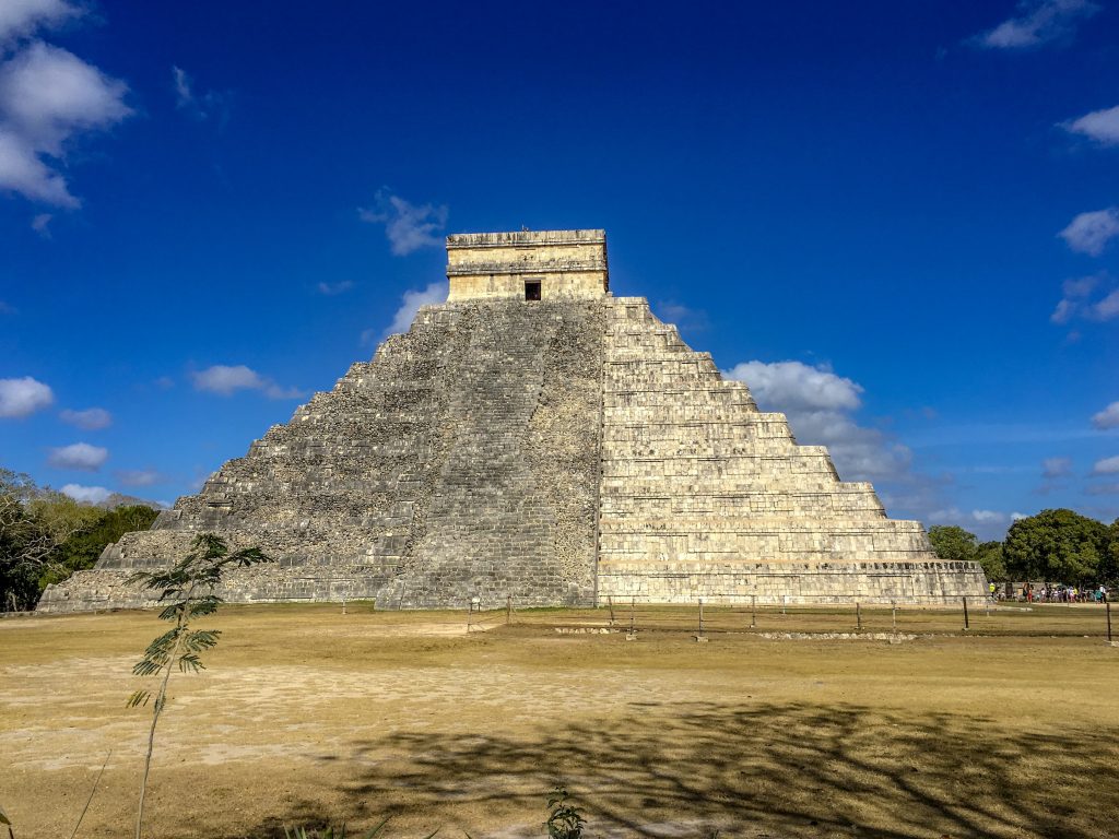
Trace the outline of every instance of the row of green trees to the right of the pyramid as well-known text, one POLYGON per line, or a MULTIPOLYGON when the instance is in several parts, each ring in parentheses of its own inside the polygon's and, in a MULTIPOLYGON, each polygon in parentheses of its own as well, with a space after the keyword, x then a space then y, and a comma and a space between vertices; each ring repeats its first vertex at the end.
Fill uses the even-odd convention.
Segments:
POLYGON ((1042 510, 1010 525, 1003 541, 979 541, 956 525, 930 527, 929 540, 941 559, 977 562, 993 582, 1119 581, 1119 519, 1104 525, 1072 510, 1042 510))

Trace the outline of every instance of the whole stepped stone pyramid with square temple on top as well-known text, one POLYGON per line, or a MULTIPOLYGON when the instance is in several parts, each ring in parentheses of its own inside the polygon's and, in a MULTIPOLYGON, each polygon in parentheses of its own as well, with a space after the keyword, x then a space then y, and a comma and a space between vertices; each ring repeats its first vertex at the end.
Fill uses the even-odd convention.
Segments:
POLYGON ((383 609, 982 596, 974 563, 839 480, 642 298, 602 230, 448 238, 450 294, 41 611, 142 605, 195 534, 256 545, 232 602, 383 609))

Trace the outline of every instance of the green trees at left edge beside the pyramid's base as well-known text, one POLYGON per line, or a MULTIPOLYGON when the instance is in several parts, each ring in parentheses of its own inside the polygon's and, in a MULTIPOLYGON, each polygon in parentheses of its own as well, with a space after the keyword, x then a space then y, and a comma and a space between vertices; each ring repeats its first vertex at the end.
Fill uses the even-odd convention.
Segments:
POLYGON ((35 609, 49 584, 92 568, 106 545, 145 530, 158 515, 145 505, 79 503, 0 469, 0 611, 35 609))

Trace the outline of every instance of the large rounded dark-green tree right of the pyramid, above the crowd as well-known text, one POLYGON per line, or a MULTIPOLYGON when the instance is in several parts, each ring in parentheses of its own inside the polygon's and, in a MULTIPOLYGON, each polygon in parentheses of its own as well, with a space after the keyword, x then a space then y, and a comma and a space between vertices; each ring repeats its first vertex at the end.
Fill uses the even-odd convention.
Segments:
POLYGON ((1007 571, 1019 579, 1092 583, 1108 548, 1108 528, 1072 510, 1042 510, 1010 525, 1003 545, 1007 571))

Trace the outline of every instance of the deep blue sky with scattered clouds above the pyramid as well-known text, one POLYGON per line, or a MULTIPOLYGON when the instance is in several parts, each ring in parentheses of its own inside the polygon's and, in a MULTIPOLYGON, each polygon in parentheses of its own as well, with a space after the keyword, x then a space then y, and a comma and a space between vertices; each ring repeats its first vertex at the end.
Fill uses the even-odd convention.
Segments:
POLYGON ((1119 516, 1119 7, 0 0, 0 465, 195 491, 449 233, 615 294, 892 516, 1119 516))

